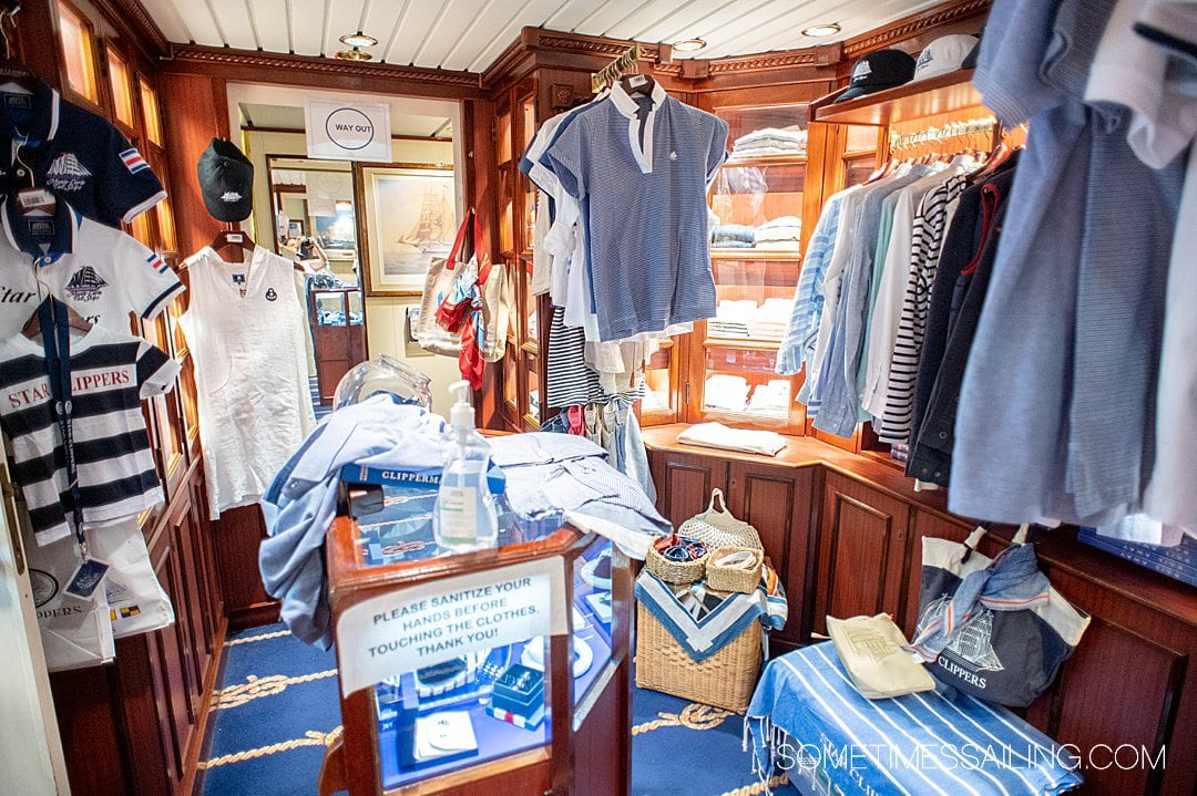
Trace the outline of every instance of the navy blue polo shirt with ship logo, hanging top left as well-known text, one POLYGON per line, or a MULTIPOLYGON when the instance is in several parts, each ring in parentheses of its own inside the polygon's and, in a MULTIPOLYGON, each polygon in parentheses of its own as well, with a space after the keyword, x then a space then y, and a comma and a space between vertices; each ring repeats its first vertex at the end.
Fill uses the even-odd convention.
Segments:
POLYGON ((48 188, 110 227, 166 197, 141 153, 107 120, 41 80, 34 93, 0 92, 0 195, 48 188))

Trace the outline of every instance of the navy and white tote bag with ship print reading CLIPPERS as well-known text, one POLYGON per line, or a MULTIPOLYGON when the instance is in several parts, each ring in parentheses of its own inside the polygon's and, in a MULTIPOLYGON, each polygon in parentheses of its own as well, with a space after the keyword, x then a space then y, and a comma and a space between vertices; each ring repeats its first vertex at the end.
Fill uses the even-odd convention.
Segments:
POLYGON ((1089 626, 1039 571, 1026 534, 1023 526, 996 559, 977 552, 985 528, 964 544, 924 538, 911 642, 937 680, 1008 708, 1046 691, 1089 626))

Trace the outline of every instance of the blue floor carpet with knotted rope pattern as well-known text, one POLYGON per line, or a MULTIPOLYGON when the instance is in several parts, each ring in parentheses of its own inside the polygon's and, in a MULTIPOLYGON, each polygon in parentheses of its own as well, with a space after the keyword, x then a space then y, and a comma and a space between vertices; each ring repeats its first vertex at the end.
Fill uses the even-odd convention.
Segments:
MULTIPOLYGON (((341 733, 333 653, 268 625, 230 636, 223 666, 196 794, 315 794, 324 748, 341 733)), ((639 688, 632 705, 634 796, 764 792, 741 751, 740 716, 639 688)))

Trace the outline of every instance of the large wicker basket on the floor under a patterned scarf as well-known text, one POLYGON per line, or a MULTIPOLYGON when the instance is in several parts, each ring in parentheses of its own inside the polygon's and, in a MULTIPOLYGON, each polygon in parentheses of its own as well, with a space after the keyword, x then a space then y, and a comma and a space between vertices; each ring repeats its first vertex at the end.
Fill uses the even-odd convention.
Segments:
POLYGON ((701 663, 674 641, 643 605, 636 610, 636 685, 640 688, 723 708, 748 710, 760 673, 761 626, 753 622, 723 649, 701 663))

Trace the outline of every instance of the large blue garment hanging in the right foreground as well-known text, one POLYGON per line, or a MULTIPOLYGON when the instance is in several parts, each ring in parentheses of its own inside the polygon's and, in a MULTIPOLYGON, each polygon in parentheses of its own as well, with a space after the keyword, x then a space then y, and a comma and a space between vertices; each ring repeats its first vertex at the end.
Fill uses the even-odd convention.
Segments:
POLYGON ((1100 525, 1152 472, 1185 164, 1149 169, 1130 111, 1084 103, 1114 6, 1004 0, 982 41, 976 85, 1031 131, 960 394, 949 508, 967 516, 1100 525))

